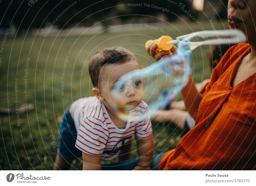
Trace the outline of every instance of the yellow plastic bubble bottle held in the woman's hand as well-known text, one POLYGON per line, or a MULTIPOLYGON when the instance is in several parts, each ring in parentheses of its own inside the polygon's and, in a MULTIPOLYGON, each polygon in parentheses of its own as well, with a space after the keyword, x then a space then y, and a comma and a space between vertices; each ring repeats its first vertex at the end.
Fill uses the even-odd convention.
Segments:
POLYGON ((145 48, 148 48, 148 45, 151 43, 156 43, 157 44, 157 49, 156 50, 170 50, 173 46, 173 44, 166 44, 166 42, 172 41, 172 38, 167 35, 162 35, 162 37, 158 39, 150 39, 145 43, 145 48))

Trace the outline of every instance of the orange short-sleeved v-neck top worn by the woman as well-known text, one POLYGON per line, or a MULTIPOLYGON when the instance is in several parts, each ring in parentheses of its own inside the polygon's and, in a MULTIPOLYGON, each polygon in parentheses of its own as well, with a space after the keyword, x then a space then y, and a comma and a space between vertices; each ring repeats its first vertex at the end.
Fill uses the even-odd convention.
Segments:
POLYGON ((230 85, 250 50, 240 43, 225 53, 204 88, 195 127, 163 156, 158 170, 256 169, 256 73, 230 85))

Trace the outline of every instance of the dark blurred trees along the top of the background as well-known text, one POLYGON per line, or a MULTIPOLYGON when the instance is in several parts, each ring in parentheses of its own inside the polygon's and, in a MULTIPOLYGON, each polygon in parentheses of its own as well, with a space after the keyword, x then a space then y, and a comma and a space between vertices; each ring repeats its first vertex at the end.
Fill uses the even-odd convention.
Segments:
MULTIPOLYGON (((225 2, 225 0, 217 1, 225 2)), ((13 24, 17 29, 17 34, 20 35, 29 29, 44 27, 56 18, 58 20, 54 22, 54 25, 60 28, 72 27, 78 23, 81 26, 91 26, 99 21, 106 28, 110 24, 121 24, 130 20, 133 20, 133 22, 139 20, 156 22, 159 21, 157 17, 160 15, 162 15, 160 17, 166 18, 167 21, 174 21, 178 19, 176 15, 186 14, 181 8, 177 8, 179 3, 184 4, 185 10, 193 12, 194 15, 198 13, 191 6, 192 0, 180 0, 178 3, 175 3, 174 0, 173 2, 148 0, 146 3, 150 5, 149 7, 144 6, 144 3, 143 0, 99 0, 98 2, 83 0, 2 0, 0 1, 2 9, 0 27, 7 28, 13 24), (127 6, 128 3, 142 3, 143 6, 127 6), (169 11, 157 10, 151 7, 152 4, 166 8, 169 11)), ((219 12, 221 13, 221 11, 219 12)))

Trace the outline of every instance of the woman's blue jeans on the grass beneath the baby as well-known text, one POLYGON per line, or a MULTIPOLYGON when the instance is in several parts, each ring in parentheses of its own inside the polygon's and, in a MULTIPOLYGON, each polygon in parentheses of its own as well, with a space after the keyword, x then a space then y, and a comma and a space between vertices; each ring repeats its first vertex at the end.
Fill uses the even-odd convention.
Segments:
MULTIPOLYGON (((152 159, 152 170, 157 170, 158 164, 165 153, 155 154, 152 159)), ((102 170, 132 170, 138 165, 138 159, 128 159, 116 163, 101 165, 102 170)))

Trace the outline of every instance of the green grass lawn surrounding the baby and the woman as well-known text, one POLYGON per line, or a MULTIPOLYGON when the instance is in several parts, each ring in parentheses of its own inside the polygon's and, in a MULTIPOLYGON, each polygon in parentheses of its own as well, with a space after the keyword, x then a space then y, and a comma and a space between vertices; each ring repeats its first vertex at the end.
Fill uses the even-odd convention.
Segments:
MULTIPOLYGON (((222 23, 214 24, 216 29, 223 29, 222 23)), ((121 45, 138 57, 141 66, 151 64, 144 43, 150 37, 158 38, 159 31, 142 26, 141 30, 132 32, 108 32, 99 35, 82 35, 68 37, 26 37, 8 38, 4 46, 2 64, 0 66, 0 107, 15 107, 15 78, 18 78, 18 104, 34 104, 35 109, 20 114, 20 126, 17 115, 0 115, 0 166, 2 170, 51 170, 54 165, 56 148, 53 148, 49 121, 53 136, 58 138, 57 116, 61 116, 67 106, 78 98, 92 95, 92 84, 88 76, 88 59, 99 49, 121 45), (24 43, 23 43, 24 41, 24 43), (70 52, 69 52, 70 51, 70 52), (61 75, 64 60, 68 56, 68 63, 64 75, 64 96, 61 96, 61 75), (26 67, 27 58, 29 66, 26 67), (28 92, 24 93, 25 69, 28 68, 28 92)), ((175 23, 161 27, 172 35, 188 34, 192 31, 210 30, 209 23, 197 25, 189 23, 175 23)), ((208 46, 198 48, 193 52, 194 80, 201 82, 210 78, 211 70, 206 59, 208 46)), ((182 138, 182 131, 171 124, 153 123, 154 142, 166 139, 155 153, 175 148, 182 138)), ((136 155, 136 144, 133 143, 132 157, 136 155)), ((80 160, 72 164, 82 168, 80 160)))

